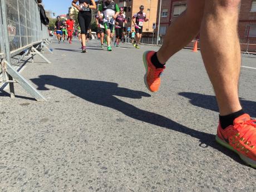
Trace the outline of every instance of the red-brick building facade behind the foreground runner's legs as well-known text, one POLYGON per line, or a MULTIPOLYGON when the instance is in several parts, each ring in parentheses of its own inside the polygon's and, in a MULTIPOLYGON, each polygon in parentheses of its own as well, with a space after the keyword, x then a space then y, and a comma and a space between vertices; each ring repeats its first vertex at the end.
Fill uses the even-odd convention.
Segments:
MULTIPOLYGON (((160 14, 160 36, 164 36, 171 22, 185 11, 186 0, 162 0, 160 14)), ((157 21, 159 13, 157 13, 157 21)), ((158 26, 158 22, 157 25, 158 26)), ((256 0, 242 0, 239 16, 239 38, 241 43, 256 44, 256 0)))

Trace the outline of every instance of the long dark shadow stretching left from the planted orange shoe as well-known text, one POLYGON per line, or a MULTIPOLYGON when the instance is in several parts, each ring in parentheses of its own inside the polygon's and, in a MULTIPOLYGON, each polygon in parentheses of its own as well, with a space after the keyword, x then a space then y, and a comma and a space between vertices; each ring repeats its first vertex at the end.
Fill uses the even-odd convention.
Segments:
POLYGON ((46 85, 62 88, 63 90, 67 90, 73 95, 80 97, 81 99, 92 102, 93 104, 110 107, 133 119, 195 137, 196 139, 199 139, 199 146, 211 146, 232 157, 232 159, 238 161, 240 164, 243 164, 242 160, 240 160, 234 152, 216 144, 215 135, 190 129, 189 127, 180 125, 179 123, 172 121, 162 115, 141 110, 115 97, 121 96, 131 99, 141 99, 142 97, 150 97, 148 93, 130 90, 124 87, 118 87, 118 84, 113 82, 82 80, 76 78, 61 78, 53 75, 41 75, 39 77, 40 78, 31 79, 31 81, 38 86, 38 90, 49 90, 46 88, 46 85))

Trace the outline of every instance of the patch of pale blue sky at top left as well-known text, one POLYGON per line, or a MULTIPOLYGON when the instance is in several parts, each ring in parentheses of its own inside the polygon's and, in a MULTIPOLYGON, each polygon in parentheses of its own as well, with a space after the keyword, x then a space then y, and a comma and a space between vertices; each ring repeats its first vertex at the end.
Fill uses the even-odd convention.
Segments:
MULTIPOLYGON (((68 7, 71 7, 72 0, 43 0, 43 5, 47 11, 55 13, 55 17, 60 14, 67 14, 68 7)), ((53 17, 53 15, 51 15, 53 17)))

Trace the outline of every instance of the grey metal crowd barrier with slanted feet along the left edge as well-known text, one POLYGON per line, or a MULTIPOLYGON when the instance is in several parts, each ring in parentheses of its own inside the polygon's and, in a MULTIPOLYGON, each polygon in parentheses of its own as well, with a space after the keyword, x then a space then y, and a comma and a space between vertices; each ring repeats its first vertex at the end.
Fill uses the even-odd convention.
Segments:
POLYGON ((11 97, 14 97, 13 83, 17 82, 36 100, 46 100, 17 72, 12 58, 19 55, 21 60, 38 54, 51 63, 37 50, 48 49, 49 43, 48 29, 41 23, 36 0, 0 0, 0 83, 9 83, 11 97))

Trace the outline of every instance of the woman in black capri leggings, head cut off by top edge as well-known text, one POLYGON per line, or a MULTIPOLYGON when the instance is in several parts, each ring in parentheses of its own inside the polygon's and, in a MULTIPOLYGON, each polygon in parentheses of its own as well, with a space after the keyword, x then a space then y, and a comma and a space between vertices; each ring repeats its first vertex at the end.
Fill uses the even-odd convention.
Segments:
POLYGON ((96 9, 95 0, 73 0, 72 6, 78 9, 78 22, 81 28, 81 38, 82 38, 82 52, 87 52, 86 50, 86 33, 91 23, 91 9, 96 9), (77 6, 79 2, 79 6, 77 6))

